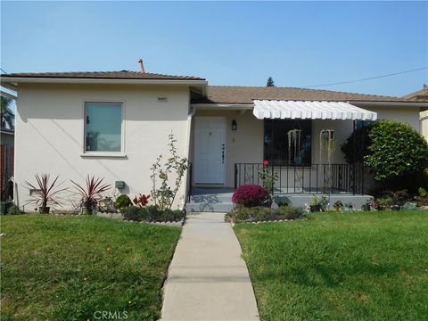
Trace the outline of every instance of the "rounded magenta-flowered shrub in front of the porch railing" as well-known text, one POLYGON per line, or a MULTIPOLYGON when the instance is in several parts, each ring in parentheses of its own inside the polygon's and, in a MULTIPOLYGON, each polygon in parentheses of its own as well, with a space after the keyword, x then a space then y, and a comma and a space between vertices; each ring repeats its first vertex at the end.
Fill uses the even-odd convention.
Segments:
POLYGON ((245 207, 270 206, 272 199, 266 188, 260 185, 241 185, 235 191, 232 202, 245 207))

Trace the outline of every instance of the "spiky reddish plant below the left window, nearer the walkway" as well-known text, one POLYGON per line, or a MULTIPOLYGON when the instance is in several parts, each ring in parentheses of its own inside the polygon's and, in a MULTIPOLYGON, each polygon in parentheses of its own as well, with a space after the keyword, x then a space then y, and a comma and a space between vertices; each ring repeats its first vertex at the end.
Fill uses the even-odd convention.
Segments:
POLYGON ((83 214, 92 214, 96 209, 98 201, 102 198, 102 193, 109 190, 111 185, 103 184, 103 179, 97 177, 86 177, 86 186, 78 185, 71 180, 75 185, 76 193, 80 196, 80 206, 83 214))

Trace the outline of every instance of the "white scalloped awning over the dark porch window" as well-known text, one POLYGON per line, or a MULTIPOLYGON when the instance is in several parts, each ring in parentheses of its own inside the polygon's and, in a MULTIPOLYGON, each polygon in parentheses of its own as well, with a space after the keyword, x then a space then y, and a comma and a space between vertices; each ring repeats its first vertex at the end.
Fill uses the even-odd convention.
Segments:
POLYGON ((376 120, 377 113, 343 102, 254 100, 257 119, 376 120))

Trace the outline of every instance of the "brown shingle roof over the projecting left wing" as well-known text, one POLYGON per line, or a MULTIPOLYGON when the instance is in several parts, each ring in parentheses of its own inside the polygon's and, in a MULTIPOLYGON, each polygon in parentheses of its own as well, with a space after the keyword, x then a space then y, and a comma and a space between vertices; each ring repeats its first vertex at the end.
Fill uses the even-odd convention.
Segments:
POLYGON ((160 80, 205 80, 205 78, 190 76, 162 75, 140 71, 70 71, 70 72, 24 72, 4 74, 2 77, 11 78, 93 78, 93 79, 160 79, 160 80))

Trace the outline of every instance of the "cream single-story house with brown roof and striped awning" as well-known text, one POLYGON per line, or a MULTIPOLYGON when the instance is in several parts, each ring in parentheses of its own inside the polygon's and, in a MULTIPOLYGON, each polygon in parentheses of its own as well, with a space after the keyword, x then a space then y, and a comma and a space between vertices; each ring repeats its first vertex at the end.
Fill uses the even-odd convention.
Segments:
POLYGON ((20 204, 29 198, 23 182, 41 172, 81 183, 95 175, 111 185, 125 182, 116 193, 150 193, 150 168, 168 154, 171 132, 177 153, 190 161, 177 206, 192 196, 190 210, 226 210, 235 187, 259 183, 263 160, 278 174, 276 193, 361 196, 368 178, 361 164, 346 164, 340 144, 375 119, 397 119, 420 132, 419 112, 428 107, 391 96, 209 86, 205 78, 127 70, 16 73, 3 75, 1 84, 18 93, 20 204), (322 151, 323 129, 335 152, 322 151), (222 202, 226 207, 213 205, 222 202))

